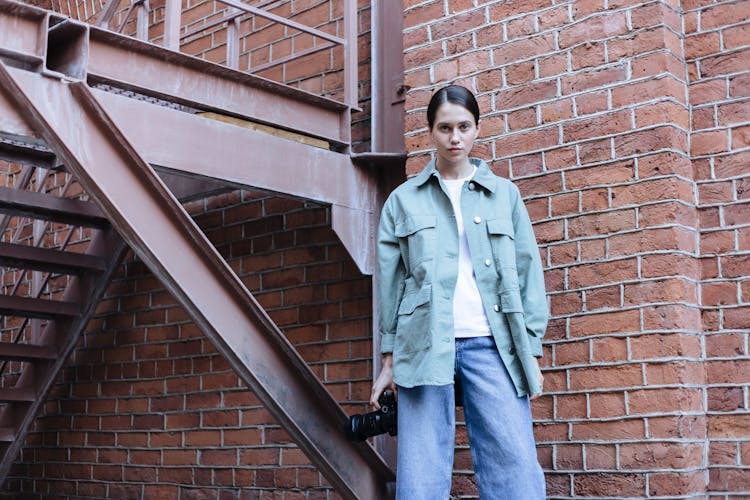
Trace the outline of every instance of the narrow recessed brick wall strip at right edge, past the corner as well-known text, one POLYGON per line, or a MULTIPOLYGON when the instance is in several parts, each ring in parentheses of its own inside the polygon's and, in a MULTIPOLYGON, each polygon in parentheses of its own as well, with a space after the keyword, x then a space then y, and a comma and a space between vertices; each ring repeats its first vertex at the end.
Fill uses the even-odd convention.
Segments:
POLYGON ((712 498, 750 492, 750 3, 683 2, 712 498))

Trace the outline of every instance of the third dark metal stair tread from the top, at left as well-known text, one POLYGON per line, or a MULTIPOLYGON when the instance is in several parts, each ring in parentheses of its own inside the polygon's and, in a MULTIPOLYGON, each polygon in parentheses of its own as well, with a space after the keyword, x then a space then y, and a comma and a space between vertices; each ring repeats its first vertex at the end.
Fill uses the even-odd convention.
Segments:
POLYGON ((0 266, 32 269, 60 274, 104 271, 103 258, 73 252, 61 252, 30 245, 0 243, 0 266))

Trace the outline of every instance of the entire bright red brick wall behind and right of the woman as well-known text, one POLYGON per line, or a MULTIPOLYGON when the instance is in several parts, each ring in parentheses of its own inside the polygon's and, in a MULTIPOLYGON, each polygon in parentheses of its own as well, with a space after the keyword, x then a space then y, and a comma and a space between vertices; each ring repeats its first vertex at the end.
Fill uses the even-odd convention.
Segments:
POLYGON ((408 172, 464 84, 534 220, 550 497, 750 494, 750 2, 404 3, 408 172))

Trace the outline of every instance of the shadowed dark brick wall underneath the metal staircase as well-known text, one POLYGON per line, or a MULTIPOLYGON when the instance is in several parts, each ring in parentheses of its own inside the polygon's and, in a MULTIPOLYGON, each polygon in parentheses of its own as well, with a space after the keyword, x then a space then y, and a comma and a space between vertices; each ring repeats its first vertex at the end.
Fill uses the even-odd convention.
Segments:
MULTIPOLYGON (((371 384, 371 280, 325 207, 233 192, 188 207, 347 411, 371 384)), ((27 438, 28 498, 336 498, 159 280, 129 258, 27 438)))

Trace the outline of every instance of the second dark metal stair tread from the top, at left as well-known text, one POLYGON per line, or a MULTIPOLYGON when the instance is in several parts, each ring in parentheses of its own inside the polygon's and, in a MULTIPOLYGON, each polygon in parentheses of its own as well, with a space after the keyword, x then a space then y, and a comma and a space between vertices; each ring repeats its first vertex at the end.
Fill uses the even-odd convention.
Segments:
POLYGON ((7 187, 0 187, 0 212, 74 226, 106 227, 108 224, 94 203, 7 187))

